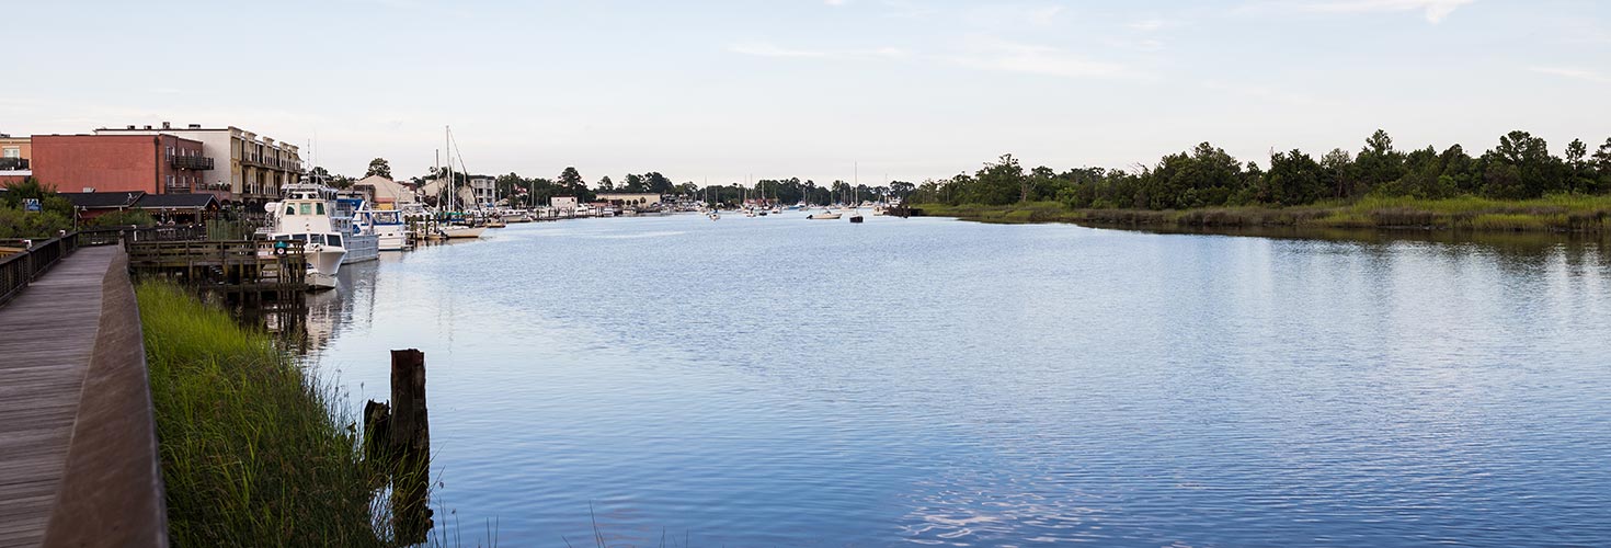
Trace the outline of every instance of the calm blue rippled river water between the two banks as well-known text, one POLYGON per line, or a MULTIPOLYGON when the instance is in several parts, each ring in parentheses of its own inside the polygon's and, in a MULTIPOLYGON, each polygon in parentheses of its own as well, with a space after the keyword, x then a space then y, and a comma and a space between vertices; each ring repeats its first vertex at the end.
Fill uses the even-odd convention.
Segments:
POLYGON ((1611 545, 1593 242, 673 216, 343 282, 309 359, 425 351, 467 543, 1611 545))

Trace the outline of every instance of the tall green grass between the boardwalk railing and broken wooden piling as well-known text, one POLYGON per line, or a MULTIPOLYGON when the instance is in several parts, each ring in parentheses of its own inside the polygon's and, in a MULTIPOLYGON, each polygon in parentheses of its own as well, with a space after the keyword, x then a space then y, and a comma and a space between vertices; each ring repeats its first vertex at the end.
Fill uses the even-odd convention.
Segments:
POLYGON ((172 543, 385 545, 375 475, 333 392, 177 285, 135 293, 172 543))

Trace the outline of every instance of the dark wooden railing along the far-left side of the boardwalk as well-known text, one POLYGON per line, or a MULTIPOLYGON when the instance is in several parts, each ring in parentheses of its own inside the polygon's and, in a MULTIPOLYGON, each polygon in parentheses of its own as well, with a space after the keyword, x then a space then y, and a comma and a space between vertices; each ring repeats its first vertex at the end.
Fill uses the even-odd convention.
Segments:
POLYGON ((206 227, 195 224, 172 227, 98 227, 64 232, 43 240, 0 240, 0 305, 10 301, 23 289, 27 289, 29 284, 45 276, 52 266, 56 266, 58 261, 72 255, 81 247, 205 237, 206 227))

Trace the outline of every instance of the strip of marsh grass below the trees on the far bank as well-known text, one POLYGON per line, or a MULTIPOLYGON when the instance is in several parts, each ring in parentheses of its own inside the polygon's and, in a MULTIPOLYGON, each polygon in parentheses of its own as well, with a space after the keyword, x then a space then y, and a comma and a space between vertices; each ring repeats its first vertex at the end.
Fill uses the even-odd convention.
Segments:
POLYGON ((913 205, 928 216, 983 222, 1083 222, 1162 227, 1456 229, 1513 232, 1611 232, 1611 195, 1553 195, 1535 200, 1477 197, 1363 198, 1290 208, 1070 210, 1057 201, 1005 206, 913 205))

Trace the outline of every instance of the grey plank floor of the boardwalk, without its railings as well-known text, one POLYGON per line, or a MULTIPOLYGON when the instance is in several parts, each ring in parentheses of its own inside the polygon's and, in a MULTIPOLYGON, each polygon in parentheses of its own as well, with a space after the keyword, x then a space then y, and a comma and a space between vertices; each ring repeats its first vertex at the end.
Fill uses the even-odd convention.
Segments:
POLYGON ((0 546, 45 538, 119 255, 81 248, 0 306, 0 546))

